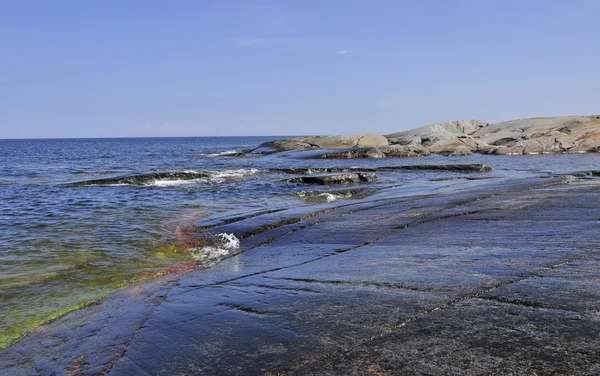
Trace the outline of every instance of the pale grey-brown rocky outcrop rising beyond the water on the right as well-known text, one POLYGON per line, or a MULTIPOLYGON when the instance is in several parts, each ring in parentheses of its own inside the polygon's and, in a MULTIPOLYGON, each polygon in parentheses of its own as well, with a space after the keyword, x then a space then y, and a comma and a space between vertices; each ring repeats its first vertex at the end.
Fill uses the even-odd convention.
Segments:
POLYGON ((529 118, 496 124, 456 120, 388 135, 297 137, 265 143, 250 153, 314 149, 329 150, 316 155, 317 158, 598 152, 600 115, 529 118))

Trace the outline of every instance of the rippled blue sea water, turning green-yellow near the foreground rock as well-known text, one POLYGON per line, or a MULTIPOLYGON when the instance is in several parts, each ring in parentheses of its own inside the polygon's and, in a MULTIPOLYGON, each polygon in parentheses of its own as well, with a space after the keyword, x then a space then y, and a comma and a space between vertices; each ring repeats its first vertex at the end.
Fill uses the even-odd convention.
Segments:
MULTIPOLYGON (((127 283, 193 262, 185 234, 200 219, 315 205, 308 187, 276 168, 489 163, 514 178, 599 169, 600 155, 383 160, 295 159, 294 153, 228 157, 276 137, 0 140, 0 348, 27 330, 127 283), (194 180, 72 187, 123 175, 192 172, 194 180), (304 193, 303 193, 304 192, 304 193), (182 235, 183 234, 183 235, 182 235)), ((380 194, 414 195, 485 184, 440 180, 452 172, 381 172, 380 194)), ((471 174, 474 175, 474 174, 471 174)), ((320 191, 319 191, 320 190, 320 191)), ((314 193, 314 192, 313 192, 314 193)), ((327 196, 316 196, 325 199, 327 196)), ((331 198, 331 196, 329 196, 331 198)), ((323 201, 323 200, 321 200, 323 201)), ((338 198, 331 202, 349 201, 338 198)), ((321 202, 322 203, 322 202, 321 202)))

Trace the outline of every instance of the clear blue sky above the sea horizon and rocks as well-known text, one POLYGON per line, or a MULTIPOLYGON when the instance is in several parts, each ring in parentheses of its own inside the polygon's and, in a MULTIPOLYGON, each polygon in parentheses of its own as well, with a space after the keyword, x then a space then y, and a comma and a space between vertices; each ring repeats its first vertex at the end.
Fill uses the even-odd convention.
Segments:
POLYGON ((0 138, 600 113, 600 1, 0 0, 0 138))

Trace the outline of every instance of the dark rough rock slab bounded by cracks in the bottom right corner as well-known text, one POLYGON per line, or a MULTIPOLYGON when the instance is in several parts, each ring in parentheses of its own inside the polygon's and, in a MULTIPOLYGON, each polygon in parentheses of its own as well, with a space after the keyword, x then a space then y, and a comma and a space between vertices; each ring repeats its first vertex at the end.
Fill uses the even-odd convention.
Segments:
POLYGON ((297 375, 596 375, 595 314, 470 299, 418 317, 297 375))

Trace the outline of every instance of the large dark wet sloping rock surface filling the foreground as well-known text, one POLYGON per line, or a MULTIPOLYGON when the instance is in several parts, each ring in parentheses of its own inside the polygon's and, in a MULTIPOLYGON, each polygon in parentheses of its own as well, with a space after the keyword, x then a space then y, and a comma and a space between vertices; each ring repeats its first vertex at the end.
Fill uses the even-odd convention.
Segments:
POLYGON ((600 186, 564 181, 223 223, 263 231, 55 321, 0 373, 598 374, 600 186))

